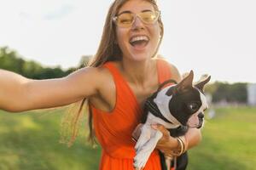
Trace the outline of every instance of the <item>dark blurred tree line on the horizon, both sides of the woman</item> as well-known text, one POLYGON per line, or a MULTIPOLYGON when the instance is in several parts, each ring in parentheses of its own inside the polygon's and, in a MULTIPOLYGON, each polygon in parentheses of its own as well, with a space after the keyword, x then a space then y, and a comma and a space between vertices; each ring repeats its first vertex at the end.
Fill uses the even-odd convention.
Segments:
MULTIPOLYGON (((0 48, 0 68, 8 71, 14 71, 24 77, 32 79, 47 79, 65 77, 73 71, 84 67, 88 63, 90 56, 82 56, 77 67, 67 70, 61 69, 61 66, 44 67, 33 60, 25 60, 20 55, 8 47, 0 48)), ((247 83, 236 82, 213 82, 207 85, 206 93, 211 94, 212 102, 218 103, 225 101, 228 103, 247 103, 247 83)))

